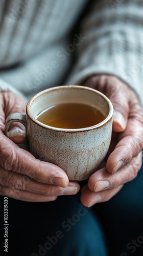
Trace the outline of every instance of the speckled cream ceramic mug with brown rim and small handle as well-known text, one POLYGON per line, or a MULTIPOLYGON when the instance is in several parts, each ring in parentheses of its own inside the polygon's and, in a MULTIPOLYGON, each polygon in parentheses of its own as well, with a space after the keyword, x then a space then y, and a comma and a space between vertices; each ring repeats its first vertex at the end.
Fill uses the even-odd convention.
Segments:
POLYGON ((99 91, 82 86, 61 86, 44 90, 27 104, 26 115, 15 113, 6 120, 25 125, 30 152, 38 159, 61 167, 69 180, 89 178, 105 158, 112 133, 113 106, 99 91), (49 106, 60 103, 84 103, 96 106, 104 121, 82 129, 60 129, 45 125, 35 117, 49 106))

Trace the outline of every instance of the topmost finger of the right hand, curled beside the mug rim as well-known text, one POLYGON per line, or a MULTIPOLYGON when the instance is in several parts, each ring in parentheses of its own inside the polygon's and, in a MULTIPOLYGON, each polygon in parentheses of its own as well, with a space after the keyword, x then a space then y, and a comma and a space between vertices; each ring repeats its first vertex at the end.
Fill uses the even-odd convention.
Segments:
POLYGON ((89 78, 84 85, 99 90, 111 100, 114 108, 113 131, 124 131, 129 115, 131 93, 127 84, 114 76, 99 75, 89 78))

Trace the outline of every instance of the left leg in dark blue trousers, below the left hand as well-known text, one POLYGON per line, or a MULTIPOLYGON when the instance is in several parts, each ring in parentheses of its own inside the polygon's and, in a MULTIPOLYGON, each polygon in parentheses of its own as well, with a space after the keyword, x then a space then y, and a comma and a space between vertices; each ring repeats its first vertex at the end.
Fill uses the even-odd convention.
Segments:
POLYGON ((8 198, 8 223, 7 255, 107 255, 98 219, 81 205, 79 195, 48 203, 8 198))

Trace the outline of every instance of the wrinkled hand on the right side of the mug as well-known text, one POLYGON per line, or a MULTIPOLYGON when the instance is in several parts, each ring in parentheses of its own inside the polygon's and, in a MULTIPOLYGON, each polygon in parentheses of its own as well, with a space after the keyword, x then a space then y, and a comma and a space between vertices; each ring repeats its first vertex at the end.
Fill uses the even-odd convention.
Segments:
POLYGON ((93 76, 84 86, 104 93, 114 107, 109 152, 81 190, 82 204, 90 207, 108 201, 137 176, 142 163, 143 111, 135 92, 116 77, 93 76))

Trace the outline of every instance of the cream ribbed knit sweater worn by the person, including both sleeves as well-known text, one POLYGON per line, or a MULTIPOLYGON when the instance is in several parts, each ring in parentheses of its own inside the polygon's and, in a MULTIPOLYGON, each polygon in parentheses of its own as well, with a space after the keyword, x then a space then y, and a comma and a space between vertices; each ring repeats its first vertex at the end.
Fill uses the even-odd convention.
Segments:
POLYGON ((50 87, 112 74, 143 104, 141 0, 1 0, 0 18, 1 91, 28 100, 50 87))

